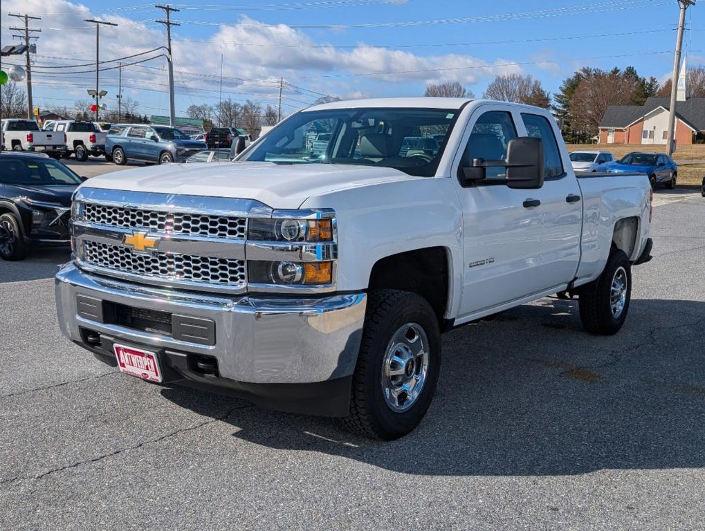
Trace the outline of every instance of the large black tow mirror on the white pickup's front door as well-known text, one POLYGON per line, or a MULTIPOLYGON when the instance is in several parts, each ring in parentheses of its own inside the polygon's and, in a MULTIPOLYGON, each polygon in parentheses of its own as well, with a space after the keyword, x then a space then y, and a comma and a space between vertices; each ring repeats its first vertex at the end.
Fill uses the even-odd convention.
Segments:
POLYGON ((504 161, 473 158, 470 165, 460 168, 460 185, 471 187, 486 180, 487 168, 507 168, 504 179, 492 179, 515 189, 537 189, 544 186, 544 141, 521 137, 509 141, 504 161))

